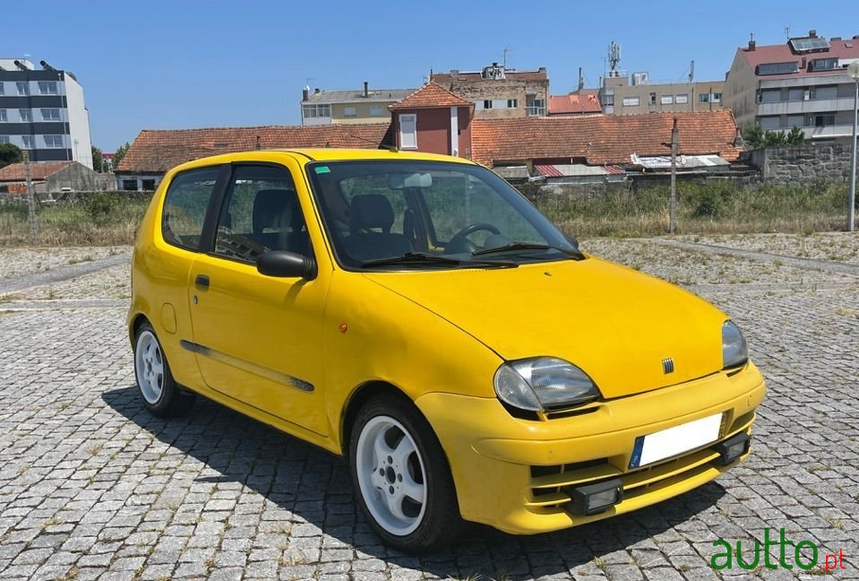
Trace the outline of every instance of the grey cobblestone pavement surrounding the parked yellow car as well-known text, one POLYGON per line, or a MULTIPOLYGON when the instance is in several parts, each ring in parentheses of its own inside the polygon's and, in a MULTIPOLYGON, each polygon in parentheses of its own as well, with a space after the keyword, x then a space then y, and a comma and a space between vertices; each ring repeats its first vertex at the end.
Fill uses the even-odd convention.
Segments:
MULTIPOLYGON (((760 244, 752 249, 785 254, 760 244)), ((766 527, 817 543, 821 562, 843 551, 845 568, 831 575, 859 578, 859 276, 642 240, 583 247, 683 283, 743 327, 769 380, 748 462, 655 507, 561 533, 474 525, 445 551, 390 551, 358 515, 339 459, 214 403, 173 421, 142 409, 118 265, 57 283, 53 297, 32 287, 0 302, 0 578, 824 573, 710 568, 715 540, 742 541, 750 559, 766 527)))

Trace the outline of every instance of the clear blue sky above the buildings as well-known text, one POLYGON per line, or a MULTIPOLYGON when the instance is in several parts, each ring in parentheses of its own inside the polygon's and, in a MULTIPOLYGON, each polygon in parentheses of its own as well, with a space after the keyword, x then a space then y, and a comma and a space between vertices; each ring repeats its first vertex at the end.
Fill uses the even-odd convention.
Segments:
POLYGON ((81 3, 30 0, 0 23, 0 56, 30 55, 82 82, 94 144, 105 152, 144 128, 296 125, 301 89, 418 87, 430 67, 549 72, 555 94, 588 86, 606 47, 654 81, 721 79, 749 33, 759 44, 859 34, 855 0, 642 2, 81 3), (23 12, 21 12, 21 10, 23 12), (32 22, 29 19, 32 18, 32 22), (22 20, 23 19, 23 20, 22 20))

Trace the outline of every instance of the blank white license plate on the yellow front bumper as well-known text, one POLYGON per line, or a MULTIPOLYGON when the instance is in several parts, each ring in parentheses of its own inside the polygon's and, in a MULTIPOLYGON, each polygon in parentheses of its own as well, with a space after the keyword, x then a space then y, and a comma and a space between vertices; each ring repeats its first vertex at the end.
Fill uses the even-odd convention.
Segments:
POLYGON ((652 464, 715 442, 721 425, 722 414, 717 413, 647 436, 639 436, 635 438, 635 446, 632 447, 630 468, 652 464))

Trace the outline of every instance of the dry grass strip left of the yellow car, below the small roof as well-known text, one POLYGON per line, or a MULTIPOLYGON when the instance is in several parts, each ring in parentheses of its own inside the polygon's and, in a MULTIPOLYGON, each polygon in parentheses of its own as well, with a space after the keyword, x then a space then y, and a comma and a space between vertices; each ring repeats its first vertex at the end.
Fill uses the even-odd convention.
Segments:
MULTIPOLYGON (((98 192, 75 204, 43 204, 37 209, 42 246, 123 246, 134 234, 149 205, 123 194, 98 192)), ((0 204, 0 247, 31 243, 27 204, 0 204)), ((87 260, 84 257, 81 262, 87 260)), ((91 258, 90 258, 91 260, 91 258)), ((69 264, 72 264, 71 262, 69 264)))

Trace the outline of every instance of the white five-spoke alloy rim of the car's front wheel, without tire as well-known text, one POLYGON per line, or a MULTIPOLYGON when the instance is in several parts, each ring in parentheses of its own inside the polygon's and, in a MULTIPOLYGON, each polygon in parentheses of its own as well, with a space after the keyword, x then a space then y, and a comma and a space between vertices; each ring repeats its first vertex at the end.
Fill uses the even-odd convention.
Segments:
POLYGON ((399 421, 376 416, 364 426, 356 447, 361 496, 376 523, 405 536, 417 529, 426 509, 424 459, 399 421))

